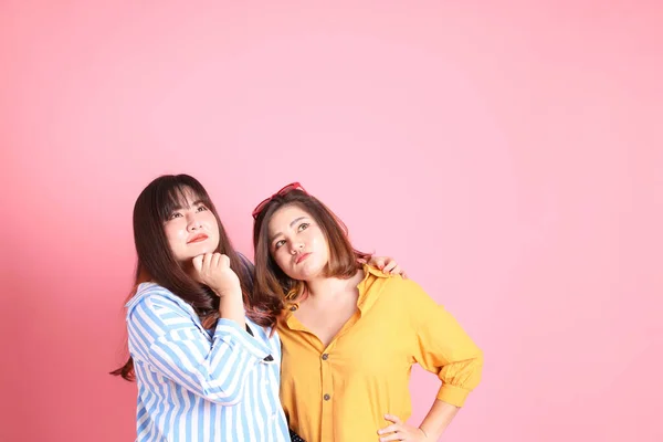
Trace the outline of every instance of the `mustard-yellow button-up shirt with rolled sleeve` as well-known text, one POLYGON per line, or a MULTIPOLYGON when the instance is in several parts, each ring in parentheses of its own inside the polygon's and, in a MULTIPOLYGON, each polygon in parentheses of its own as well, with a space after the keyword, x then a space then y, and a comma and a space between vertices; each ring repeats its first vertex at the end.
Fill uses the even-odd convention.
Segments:
POLYGON ((278 326, 281 401, 307 442, 377 441, 386 413, 409 419, 413 364, 457 407, 481 379, 482 351, 442 306, 412 281, 364 271, 358 312, 326 348, 290 312, 278 326))

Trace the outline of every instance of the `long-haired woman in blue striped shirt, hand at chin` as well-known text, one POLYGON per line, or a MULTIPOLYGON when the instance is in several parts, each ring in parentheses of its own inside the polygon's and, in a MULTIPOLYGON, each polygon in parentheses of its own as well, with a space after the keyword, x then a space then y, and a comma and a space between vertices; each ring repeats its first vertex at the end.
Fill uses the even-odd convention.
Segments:
POLYGON ((252 294, 194 178, 154 180, 134 207, 136 291, 127 304, 137 441, 290 441, 278 401, 280 307, 252 294))

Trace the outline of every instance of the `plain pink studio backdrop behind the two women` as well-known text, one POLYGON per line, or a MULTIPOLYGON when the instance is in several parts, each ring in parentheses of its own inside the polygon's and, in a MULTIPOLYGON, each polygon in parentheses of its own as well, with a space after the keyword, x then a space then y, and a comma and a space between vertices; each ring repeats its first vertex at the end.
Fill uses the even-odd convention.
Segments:
MULTIPOLYGON (((534 6, 536 3, 536 6, 534 6)), ((129 441, 130 217, 299 180, 485 349, 448 441, 662 441, 663 7, 0 6, 0 440, 129 441)), ((415 370, 418 423, 434 377, 415 370)))

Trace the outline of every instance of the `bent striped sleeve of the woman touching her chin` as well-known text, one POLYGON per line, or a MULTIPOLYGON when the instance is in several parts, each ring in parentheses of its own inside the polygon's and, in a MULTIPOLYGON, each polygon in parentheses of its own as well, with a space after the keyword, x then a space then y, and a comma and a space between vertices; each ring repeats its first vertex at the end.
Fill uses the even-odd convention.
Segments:
POLYGON ((190 311, 159 293, 131 307, 127 327, 135 360, 149 365, 150 372, 222 404, 241 400, 246 373, 270 354, 243 325, 230 319, 219 319, 210 341, 190 311))

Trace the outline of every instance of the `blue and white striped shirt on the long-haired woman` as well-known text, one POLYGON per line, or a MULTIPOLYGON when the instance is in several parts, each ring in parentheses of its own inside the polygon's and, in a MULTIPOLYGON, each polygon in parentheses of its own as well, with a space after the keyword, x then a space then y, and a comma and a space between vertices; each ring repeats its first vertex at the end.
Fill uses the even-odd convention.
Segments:
POLYGON ((208 332, 168 290, 138 286, 127 303, 137 441, 290 441, 278 400, 281 341, 246 325, 253 336, 229 319, 208 332))

